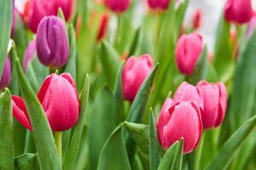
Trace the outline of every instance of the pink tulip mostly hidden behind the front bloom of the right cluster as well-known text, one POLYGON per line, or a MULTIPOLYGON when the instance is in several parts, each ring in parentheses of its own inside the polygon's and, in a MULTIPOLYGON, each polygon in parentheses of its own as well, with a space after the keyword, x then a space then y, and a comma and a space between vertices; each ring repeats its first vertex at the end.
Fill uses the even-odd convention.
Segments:
POLYGON ((201 95, 199 94, 199 91, 195 86, 189 84, 188 82, 183 82, 181 85, 177 88, 174 96, 173 101, 175 103, 180 101, 190 101, 193 100, 195 103, 200 106, 201 111, 203 110, 203 99, 201 98, 201 95))

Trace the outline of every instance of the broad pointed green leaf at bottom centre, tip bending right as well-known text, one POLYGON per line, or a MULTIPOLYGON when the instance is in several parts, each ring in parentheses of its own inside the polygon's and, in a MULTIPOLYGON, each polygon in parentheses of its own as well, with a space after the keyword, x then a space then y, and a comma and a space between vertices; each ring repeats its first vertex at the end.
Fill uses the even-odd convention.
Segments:
POLYGON ((123 124, 113 130, 102 148, 98 170, 130 170, 130 163, 123 139, 123 124))

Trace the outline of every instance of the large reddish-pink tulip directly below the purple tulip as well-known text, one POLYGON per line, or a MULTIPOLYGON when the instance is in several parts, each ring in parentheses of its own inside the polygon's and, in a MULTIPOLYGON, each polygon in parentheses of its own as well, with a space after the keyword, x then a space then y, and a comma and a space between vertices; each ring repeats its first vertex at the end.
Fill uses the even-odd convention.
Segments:
POLYGON ((68 73, 46 77, 38 92, 38 99, 53 131, 65 131, 78 122, 79 96, 68 73))

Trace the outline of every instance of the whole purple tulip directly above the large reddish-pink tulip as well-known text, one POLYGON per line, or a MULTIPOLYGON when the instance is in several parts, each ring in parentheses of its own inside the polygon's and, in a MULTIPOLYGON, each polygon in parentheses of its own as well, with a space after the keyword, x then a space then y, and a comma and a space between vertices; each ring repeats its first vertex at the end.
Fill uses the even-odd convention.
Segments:
POLYGON ((36 37, 38 59, 43 65, 61 67, 67 64, 69 45, 66 26, 56 16, 44 17, 36 37))

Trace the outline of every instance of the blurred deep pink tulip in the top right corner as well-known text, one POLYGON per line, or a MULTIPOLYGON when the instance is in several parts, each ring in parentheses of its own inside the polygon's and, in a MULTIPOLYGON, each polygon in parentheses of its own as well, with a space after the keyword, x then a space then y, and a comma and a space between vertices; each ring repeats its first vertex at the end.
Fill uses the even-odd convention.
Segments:
POLYGON ((224 17, 236 24, 247 23, 253 16, 251 0, 227 0, 224 7, 224 17))

